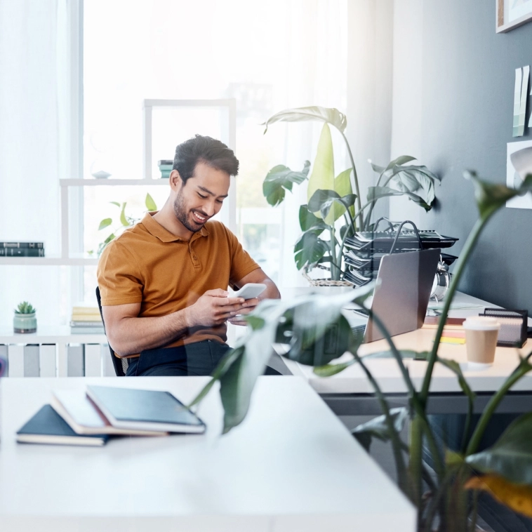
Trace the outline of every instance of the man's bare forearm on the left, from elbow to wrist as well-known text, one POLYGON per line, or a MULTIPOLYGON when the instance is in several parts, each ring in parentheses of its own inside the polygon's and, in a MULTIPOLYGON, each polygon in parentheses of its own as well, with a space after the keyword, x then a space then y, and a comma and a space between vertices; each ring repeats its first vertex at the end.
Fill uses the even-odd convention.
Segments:
POLYGON ((120 357, 166 345, 187 332, 187 309, 153 318, 124 317, 107 333, 120 357))

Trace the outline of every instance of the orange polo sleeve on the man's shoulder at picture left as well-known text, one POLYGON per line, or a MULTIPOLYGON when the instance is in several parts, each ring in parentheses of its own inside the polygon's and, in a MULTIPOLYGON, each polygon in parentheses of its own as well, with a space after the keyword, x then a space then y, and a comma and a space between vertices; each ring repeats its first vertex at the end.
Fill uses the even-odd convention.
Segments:
POLYGON ((110 242, 98 261, 98 287, 104 306, 142 302, 144 282, 137 261, 119 241, 110 242))

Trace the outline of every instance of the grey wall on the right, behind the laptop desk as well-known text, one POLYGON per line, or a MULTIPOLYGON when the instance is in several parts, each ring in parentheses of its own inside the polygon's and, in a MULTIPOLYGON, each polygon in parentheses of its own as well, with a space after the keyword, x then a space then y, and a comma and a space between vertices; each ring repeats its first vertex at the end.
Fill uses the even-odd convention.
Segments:
MULTIPOLYGON (((425 214, 404 201, 394 219, 459 237, 476 220, 465 168, 505 182, 512 139, 514 70, 532 65, 532 22, 495 32, 495 1, 395 0, 392 157, 408 153, 441 175, 438 206, 425 214)), ((528 121, 527 109, 527 121, 528 121)), ((503 208, 492 218, 461 289, 498 305, 532 310, 532 211, 503 208)), ((455 253, 458 254, 458 253, 455 253)))

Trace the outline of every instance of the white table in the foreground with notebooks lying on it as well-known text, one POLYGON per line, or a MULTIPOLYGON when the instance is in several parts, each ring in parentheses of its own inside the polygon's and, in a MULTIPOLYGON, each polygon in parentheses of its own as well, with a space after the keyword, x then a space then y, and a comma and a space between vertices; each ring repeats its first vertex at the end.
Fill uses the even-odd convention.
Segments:
POLYGON ((260 378, 248 417, 223 437, 212 390, 199 408, 204 435, 103 448, 15 443, 53 388, 145 387, 187 402, 207 381, 2 380, 1 531, 415 530, 411 504, 302 378, 260 378))

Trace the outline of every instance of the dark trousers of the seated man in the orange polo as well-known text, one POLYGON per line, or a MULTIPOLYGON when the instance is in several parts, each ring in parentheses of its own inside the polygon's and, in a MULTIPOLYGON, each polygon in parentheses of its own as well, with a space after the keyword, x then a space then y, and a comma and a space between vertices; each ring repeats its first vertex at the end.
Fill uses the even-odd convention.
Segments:
POLYGON ((215 340, 149 349, 142 351, 138 359, 131 361, 126 377, 211 375, 230 349, 229 345, 215 340))

